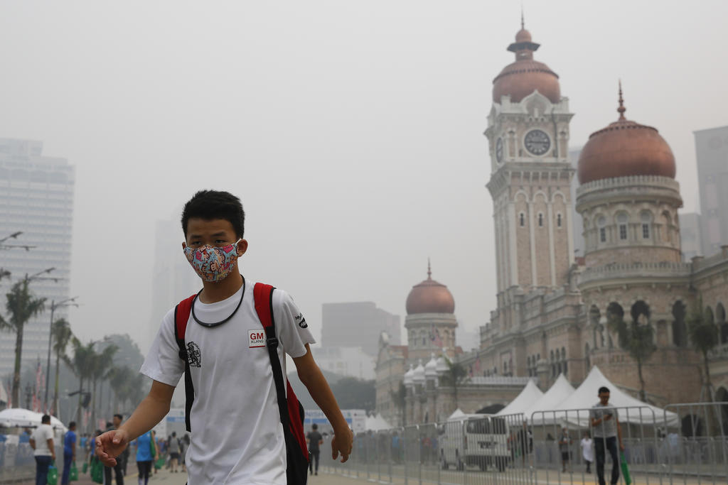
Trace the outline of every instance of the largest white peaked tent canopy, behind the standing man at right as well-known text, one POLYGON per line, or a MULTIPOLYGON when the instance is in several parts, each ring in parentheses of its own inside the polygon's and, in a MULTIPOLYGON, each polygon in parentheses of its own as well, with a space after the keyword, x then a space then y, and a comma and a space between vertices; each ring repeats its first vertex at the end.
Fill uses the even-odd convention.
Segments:
POLYGON ((618 408, 620 422, 629 422, 643 425, 667 425, 676 427, 680 418, 674 412, 665 412, 657 406, 646 404, 637 398, 633 398, 620 388, 609 382, 597 366, 593 366, 587 378, 579 385, 577 390, 571 393, 561 403, 551 409, 543 409, 543 414, 534 415, 534 424, 564 423, 587 428, 589 426, 588 410, 598 402, 597 393, 599 388, 609 388, 609 402, 618 408), (622 409, 620 409, 622 408, 622 409), (626 408, 626 409, 624 409, 626 408))

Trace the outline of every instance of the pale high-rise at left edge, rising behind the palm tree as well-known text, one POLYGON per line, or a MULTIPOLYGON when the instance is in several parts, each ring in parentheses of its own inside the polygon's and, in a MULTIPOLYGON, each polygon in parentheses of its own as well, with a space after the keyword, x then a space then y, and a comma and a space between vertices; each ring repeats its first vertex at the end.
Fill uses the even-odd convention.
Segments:
MULTIPOLYGON (((45 297, 47 304, 43 313, 25 325, 23 366, 38 358, 45 366, 50 305, 66 300, 71 286, 75 170, 66 159, 42 153, 42 142, 0 138, 0 239, 20 233, 0 247, 0 268, 10 272, 9 278, 0 281, 0 292, 7 293, 26 275, 53 268, 44 278, 31 279, 33 294, 45 297), (8 247, 14 245, 28 249, 8 247)), ((56 308, 53 318, 65 318, 67 312, 65 306, 56 308)), ((14 366, 15 333, 0 332, 0 377, 12 373, 14 366)))

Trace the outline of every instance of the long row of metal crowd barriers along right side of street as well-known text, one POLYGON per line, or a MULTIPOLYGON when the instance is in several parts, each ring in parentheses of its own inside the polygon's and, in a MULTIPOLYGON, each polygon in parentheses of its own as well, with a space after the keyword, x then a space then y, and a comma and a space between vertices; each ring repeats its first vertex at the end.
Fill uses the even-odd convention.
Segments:
MULTIPOLYGON (((620 421, 630 483, 728 484, 728 403, 671 404, 657 413, 648 406, 592 413, 480 415, 357 433, 349 462, 331 460, 327 442, 321 467, 325 473, 382 484, 581 485, 597 483, 596 449, 604 444, 604 479, 609 483, 614 466, 609 444, 604 438, 597 444, 609 429, 604 421, 591 425, 593 417, 604 413, 620 421), (582 445, 587 434, 589 463, 582 445)), ((618 481, 626 485, 618 440, 614 444, 618 481)))

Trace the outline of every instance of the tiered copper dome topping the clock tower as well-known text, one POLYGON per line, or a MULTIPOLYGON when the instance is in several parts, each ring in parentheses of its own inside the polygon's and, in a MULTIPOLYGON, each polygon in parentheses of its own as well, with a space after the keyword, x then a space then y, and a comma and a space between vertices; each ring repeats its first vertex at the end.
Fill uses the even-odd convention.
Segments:
POLYGON ((558 75, 544 63, 534 60, 534 52, 539 44, 531 41, 531 33, 521 28, 515 34, 515 42, 508 46, 515 52, 515 63, 503 68, 493 80, 493 101, 501 102, 501 96, 510 95, 513 103, 519 103, 534 91, 540 92, 551 103, 561 100, 561 87, 558 75))

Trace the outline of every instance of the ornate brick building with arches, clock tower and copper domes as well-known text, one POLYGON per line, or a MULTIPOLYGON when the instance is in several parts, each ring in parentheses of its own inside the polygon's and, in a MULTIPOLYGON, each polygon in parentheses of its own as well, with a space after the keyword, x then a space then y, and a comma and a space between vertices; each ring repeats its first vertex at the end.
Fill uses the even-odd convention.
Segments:
MULTIPOLYGON (((704 313, 718 326, 721 344, 711 353, 711 378, 716 397, 728 401, 728 246, 711 257, 681 261, 682 199, 673 153, 657 129, 625 118, 621 87, 617 121, 590 136, 577 170, 572 168, 573 114, 558 76, 534 60, 538 47, 521 28, 508 47, 515 62, 494 79, 485 135, 497 306, 480 328, 479 350, 450 353, 472 375, 459 390, 459 406, 475 412, 507 404, 529 378, 537 378, 545 390, 563 373, 577 386, 594 365, 635 396, 644 386, 653 404, 692 402, 701 393, 707 398, 702 358, 687 332, 692 312, 704 313), (585 239, 584 257, 578 258, 574 206, 585 239), (657 350, 641 369, 620 348, 609 324, 620 318, 652 327, 657 350)), ((435 300, 442 296, 432 294, 435 300)), ((418 298, 427 297, 424 292, 418 298)), ((454 342, 456 320, 452 310, 419 315, 410 309, 408 299, 401 377, 386 370, 392 368, 388 356, 397 350, 380 345, 378 385, 380 375, 390 387, 404 382, 408 422, 440 420, 455 409, 454 392, 443 386, 442 359, 430 357, 438 348, 426 345, 422 335, 428 326, 452 322, 443 330, 452 330, 454 342)), ((385 412, 379 404, 378 388, 377 407, 385 412)))

